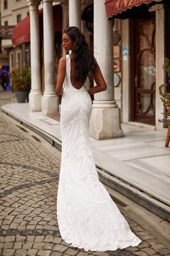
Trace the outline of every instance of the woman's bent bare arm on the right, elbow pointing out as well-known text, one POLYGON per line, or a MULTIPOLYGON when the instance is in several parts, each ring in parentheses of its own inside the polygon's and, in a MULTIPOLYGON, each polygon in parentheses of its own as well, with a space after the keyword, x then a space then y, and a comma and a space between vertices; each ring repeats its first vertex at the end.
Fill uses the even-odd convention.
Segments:
POLYGON ((107 90, 107 84, 104 81, 104 77, 102 75, 102 72, 98 64, 97 64, 96 72, 94 74, 94 81, 96 82, 97 85, 88 90, 89 95, 93 95, 94 93, 99 93, 104 90, 107 90))

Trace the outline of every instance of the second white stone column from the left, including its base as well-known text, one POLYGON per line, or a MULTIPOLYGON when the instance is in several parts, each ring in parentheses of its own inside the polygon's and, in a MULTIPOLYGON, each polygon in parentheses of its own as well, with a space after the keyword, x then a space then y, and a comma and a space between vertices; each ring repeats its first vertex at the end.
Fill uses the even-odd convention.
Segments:
POLYGON ((42 114, 58 115, 58 96, 54 92, 54 29, 53 0, 43 0, 43 41, 44 41, 44 73, 45 92, 42 96, 42 114))

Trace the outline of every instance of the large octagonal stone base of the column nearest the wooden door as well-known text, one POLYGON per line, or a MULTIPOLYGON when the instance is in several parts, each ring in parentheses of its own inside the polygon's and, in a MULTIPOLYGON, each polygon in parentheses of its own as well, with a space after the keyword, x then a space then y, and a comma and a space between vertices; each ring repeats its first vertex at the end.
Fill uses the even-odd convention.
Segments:
POLYGON ((91 137, 96 140, 123 137, 120 127, 120 108, 115 101, 94 101, 89 130, 91 137))

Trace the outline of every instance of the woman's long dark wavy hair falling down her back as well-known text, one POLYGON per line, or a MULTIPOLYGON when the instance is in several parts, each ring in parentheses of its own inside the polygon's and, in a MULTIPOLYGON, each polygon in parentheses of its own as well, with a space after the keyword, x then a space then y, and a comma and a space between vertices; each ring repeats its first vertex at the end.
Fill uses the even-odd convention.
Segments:
POLYGON ((78 27, 68 27, 63 33, 67 34, 74 43, 71 50, 75 65, 74 81, 84 84, 86 78, 93 77, 96 72, 97 61, 78 27))

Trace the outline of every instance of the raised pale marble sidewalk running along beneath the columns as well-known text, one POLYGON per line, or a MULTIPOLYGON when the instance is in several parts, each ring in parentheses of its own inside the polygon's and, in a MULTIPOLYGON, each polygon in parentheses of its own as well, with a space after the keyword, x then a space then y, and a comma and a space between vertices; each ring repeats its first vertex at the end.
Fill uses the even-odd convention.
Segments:
MULTIPOLYGON (((10 103, 2 111, 45 137, 61 150, 60 123, 29 112, 28 103, 10 103)), ((170 221, 170 148, 164 148, 166 131, 122 124, 124 137, 94 140, 94 161, 102 182, 170 221)))

